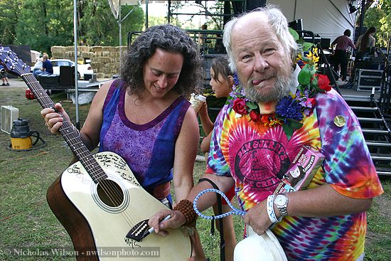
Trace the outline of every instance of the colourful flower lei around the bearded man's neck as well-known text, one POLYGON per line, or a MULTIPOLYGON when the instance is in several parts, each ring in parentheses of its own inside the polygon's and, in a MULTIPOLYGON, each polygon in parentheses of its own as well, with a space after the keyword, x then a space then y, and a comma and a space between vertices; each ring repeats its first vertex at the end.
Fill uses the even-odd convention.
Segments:
POLYGON ((300 129, 303 124, 301 120, 304 115, 311 114, 315 105, 314 96, 318 92, 328 92, 331 90, 330 80, 327 75, 317 74, 318 70, 318 49, 313 52, 296 58, 297 64, 301 67, 298 75, 299 85, 295 93, 282 97, 276 105, 276 111, 273 114, 260 114, 259 105, 256 102, 250 102, 245 97, 245 92, 239 85, 237 75, 234 75, 235 87, 230 92, 229 102, 232 103, 232 109, 240 115, 250 114, 250 119, 254 122, 261 122, 264 126, 282 125, 286 137, 291 138, 295 129, 300 129))

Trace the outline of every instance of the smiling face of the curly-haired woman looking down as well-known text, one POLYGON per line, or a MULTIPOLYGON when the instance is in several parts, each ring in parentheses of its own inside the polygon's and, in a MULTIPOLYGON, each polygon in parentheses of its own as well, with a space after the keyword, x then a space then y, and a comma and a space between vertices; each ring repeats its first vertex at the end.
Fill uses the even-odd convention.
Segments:
POLYGON ((171 53, 159 48, 143 68, 144 86, 153 97, 164 97, 178 81, 183 65, 181 53, 171 53))

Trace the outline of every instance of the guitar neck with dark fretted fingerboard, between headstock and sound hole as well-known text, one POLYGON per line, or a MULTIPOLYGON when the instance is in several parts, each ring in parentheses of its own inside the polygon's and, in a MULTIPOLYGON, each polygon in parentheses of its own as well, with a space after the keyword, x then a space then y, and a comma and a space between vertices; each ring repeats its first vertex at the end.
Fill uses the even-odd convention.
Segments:
MULTIPOLYGON (((32 73, 23 74, 21 77, 43 108, 54 109, 53 100, 50 99, 49 95, 45 92, 32 73)), ((62 114, 61 116, 63 117, 62 114)), ((77 156, 77 159, 80 160, 88 174, 90 174, 92 180, 95 183, 99 183, 102 179, 106 179, 107 175, 105 174, 105 171, 102 170, 91 152, 87 149, 87 147, 85 147, 85 144, 82 143, 79 133, 75 131, 73 124, 67 121, 64 117, 63 119, 63 125, 58 130, 70 149, 77 156)))

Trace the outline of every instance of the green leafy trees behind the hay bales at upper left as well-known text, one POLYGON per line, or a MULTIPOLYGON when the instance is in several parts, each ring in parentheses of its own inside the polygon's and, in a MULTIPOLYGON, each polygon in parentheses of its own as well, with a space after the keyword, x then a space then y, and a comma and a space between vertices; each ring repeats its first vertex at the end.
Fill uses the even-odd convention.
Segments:
MULTIPOLYGON (((0 9, 4 21, 0 23, 0 42, 4 45, 26 45, 46 53, 51 46, 73 45, 72 1, 9 0, 0 1, 0 9)), ((77 11, 79 44, 119 45, 119 24, 107 0, 78 0, 77 11)), ((122 19, 122 44, 126 44, 129 31, 143 28, 144 11, 141 6, 122 6, 122 19)))

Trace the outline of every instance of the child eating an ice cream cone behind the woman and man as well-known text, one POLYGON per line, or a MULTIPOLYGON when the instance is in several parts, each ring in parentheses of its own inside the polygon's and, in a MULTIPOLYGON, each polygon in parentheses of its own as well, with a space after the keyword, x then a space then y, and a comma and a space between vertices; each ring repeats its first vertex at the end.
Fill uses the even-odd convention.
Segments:
MULTIPOLYGON (((212 87, 213 92, 215 92, 215 97, 229 97, 230 92, 232 91, 232 85, 234 84, 233 73, 230 70, 228 65, 228 60, 226 56, 219 56, 212 60, 212 66, 210 68, 210 82, 209 85, 212 87)), ((205 138, 201 142, 200 149, 205 153, 205 158, 208 156, 209 147, 210 147, 210 138, 212 137, 213 122, 210 120, 208 115, 208 107, 204 103, 203 107, 200 108, 198 112, 200 115, 200 122, 203 125, 203 130, 205 132, 205 138)), ((235 187, 232 186, 229 191, 225 194, 227 198, 231 201, 233 196, 235 196, 235 187)), ((230 206, 227 206, 227 202, 223 199, 223 213, 231 211, 230 206)), ((215 215, 218 215, 218 206, 213 206, 213 212, 215 215)), ((216 220, 216 227, 220 228, 218 225, 218 220, 216 220)), ((225 240, 225 260, 233 260, 233 250, 237 243, 235 238, 235 230, 233 226, 232 215, 228 215, 223 218, 223 230, 224 230, 224 240, 225 240)))

